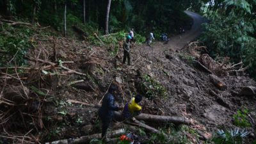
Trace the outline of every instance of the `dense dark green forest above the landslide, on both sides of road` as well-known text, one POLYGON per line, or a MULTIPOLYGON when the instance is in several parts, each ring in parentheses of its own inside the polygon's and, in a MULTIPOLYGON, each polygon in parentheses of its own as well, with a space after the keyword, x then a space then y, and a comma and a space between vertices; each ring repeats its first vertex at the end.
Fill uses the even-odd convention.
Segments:
MULTIPOLYGON (((252 76, 255 73, 255 1, 0 1, 6 19, 24 20, 39 26, 52 26, 67 35, 76 25, 87 33, 116 33, 134 28, 145 35, 149 31, 179 33, 179 28, 191 26, 184 10, 205 15, 202 40, 212 56, 228 56, 243 60, 252 76), (66 33, 66 32, 65 32, 66 33)), ((100 34, 101 35, 101 34, 100 34)), ((1 38, 1 47, 4 49, 1 38)))

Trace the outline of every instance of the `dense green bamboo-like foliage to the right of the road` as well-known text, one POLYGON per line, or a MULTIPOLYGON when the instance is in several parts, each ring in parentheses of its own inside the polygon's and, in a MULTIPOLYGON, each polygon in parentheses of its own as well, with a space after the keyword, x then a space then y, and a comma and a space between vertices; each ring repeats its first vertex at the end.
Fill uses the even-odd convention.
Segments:
POLYGON ((254 60, 256 51, 256 21, 251 13, 256 1, 224 1, 223 6, 207 13, 209 23, 201 40, 209 48, 211 56, 228 56, 230 60, 243 60, 248 65, 248 72, 255 75, 254 60), (249 3, 250 2, 250 3, 249 3))

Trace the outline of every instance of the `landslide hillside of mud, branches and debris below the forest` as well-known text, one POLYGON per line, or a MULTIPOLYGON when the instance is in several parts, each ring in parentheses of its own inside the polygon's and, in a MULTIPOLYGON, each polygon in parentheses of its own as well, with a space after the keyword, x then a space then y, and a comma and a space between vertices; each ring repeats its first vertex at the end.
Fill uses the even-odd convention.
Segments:
MULTIPOLYGON (((233 115, 241 108, 252 111, 255 120, 255 95, 239 94, 244 86, 256 87, 255 81, 243 72, 230 73, 218 76, 227 86, 225 90, 214 86, 212 74, 198 66, 188 52, 186 42, 197 36, 191 35, 193 30, 171 38, 167 45, 136 44, 131 51, 131 66, 122 65, 122 47, 113 54, 113 47, 92 45, 88 39, 31 36, 35 45, 26 54, 28 67, 0 69, 0 122, 4 129, 0 140, 43 143, 99 133, 97 105, 113 81, 119 87, 119 106, 141 93, 145 96, 142 113, 193 120, 193 124, 182 128, 148 123, 165 132, 169 129, 173 137, 174 129, 178 129, 177 133, 181 133, 174 143, 200 143, 217 129, 233 129, 233 115), (92 131, 84 127, 88 124, 95 126, 92 131)), ((253 139, 253 128, 247 130, 252 132, 249 141, 253 139)), ((134 133, 139 142, 148 143, 148 132, 147 136, 134 133)))

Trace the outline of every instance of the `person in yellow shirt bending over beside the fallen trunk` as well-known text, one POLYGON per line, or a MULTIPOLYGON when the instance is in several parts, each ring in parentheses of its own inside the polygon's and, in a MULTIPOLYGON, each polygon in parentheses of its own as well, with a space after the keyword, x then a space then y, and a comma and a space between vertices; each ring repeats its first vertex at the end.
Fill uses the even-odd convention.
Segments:
POLYGON ((125 119, 131 118, 134 115, 140 114, 140 111, 142 108, 139 105, 139 103, 141 102, 141 100, 142 100, 142 96, 136 95, 136 97, 132 97, 132 99, 125 104, 124 110, 123 110, 123 117, 125 119))

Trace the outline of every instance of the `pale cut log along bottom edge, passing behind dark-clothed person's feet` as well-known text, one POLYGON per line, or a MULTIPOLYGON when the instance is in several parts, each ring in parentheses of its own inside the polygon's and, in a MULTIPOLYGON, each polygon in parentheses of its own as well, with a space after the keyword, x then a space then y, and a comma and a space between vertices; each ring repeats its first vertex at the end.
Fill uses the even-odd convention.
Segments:
MULTIPOLYGON (((111 138, 114 136, 120 136, 121 134, 124 134, 124 133, 125 133, 124 129, 118 129, 116 131, 108 132, 107 136, 108 138, 111 138)), ((90 136, 82 136, 81 138, 76 138, 76 139, 70 138, 67 140, 52 141, 45 144, 79 144, 79 143, 88 143, 92 139, 100 139, 100 138, 101 138, 101 133, 92 134, 90 136)))

